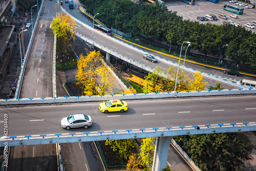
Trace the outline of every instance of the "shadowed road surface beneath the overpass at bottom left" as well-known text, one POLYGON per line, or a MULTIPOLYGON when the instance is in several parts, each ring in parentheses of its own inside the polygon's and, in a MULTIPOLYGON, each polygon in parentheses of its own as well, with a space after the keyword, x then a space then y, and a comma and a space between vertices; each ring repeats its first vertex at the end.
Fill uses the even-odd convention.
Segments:
POLYGON ((55 144, 10 147, 8 170, 57 170, 55 144), (28 164, 29 163, 29 164, 28 164))

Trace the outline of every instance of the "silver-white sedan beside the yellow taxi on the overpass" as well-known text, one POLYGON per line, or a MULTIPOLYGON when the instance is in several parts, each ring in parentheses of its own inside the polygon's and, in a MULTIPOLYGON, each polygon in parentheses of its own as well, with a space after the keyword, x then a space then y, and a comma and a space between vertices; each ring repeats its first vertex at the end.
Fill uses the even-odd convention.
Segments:
POLYGON ((89 115, 75 114, 62 118, 60 121, 61 127, 64 129, 71 129, 75 127, 84 127, 87 129, 92 125, 92 118, 89 115))

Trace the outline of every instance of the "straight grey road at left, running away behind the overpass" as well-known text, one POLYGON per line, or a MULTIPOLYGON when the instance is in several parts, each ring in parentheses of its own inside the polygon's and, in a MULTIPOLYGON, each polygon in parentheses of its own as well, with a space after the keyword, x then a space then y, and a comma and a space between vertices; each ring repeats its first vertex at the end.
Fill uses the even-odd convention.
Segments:
POLYGON ((20 97, 52 97, 53 33, 51 17, 39 20, 25 70, 20 97), (30 72, 34 71, 34 72, 30 72))

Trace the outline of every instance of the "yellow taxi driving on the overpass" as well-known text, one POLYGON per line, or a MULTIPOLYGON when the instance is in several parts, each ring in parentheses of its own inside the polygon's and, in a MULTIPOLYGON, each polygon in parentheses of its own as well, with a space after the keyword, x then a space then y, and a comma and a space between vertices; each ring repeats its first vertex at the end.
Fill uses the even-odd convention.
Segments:
POLYGON ((127 103, 122 100, 109 100, 103 103, 100 103, 99 110, 104 113, 109 112, 124 112, 127 111, 127 103))

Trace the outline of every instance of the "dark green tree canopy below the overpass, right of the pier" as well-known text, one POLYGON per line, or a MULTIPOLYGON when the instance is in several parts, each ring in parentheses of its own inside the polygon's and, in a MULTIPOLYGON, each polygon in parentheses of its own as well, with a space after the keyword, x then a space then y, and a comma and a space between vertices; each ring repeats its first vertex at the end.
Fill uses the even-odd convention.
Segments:
POLYGON ((242 170, 244 160, 250 160, 252 145, 245 143, 242 133, 175 136, 201 170, 242 170))

